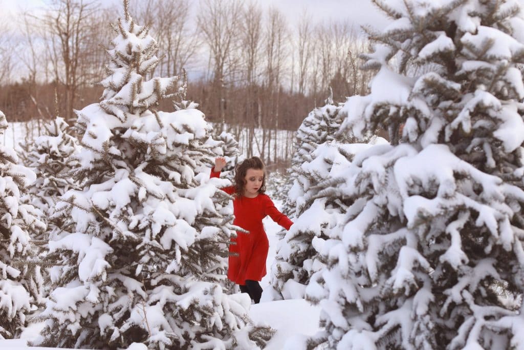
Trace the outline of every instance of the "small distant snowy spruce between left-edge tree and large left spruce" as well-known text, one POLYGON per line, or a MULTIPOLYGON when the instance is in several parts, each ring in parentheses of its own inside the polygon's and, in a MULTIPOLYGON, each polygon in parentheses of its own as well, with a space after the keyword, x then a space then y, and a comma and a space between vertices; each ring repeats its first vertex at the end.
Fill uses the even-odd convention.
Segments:
POLYGON ((57 198, 70 188, 77 188, 70 176, 79 163, 78 141, 69 134, 69 125, 57 117, 44 125, 45 132, 38 136, 25 153, 27 166, 35 171, 37 179, 28 192, 31 204, 46 216, 52 214, 57 198))

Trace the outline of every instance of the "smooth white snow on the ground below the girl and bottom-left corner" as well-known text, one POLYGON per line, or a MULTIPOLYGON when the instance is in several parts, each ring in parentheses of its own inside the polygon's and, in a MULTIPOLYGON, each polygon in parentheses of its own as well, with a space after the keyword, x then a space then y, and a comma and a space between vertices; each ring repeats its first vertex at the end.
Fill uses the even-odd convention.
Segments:
MULTIPOLYGON (((281 202, 274 201, 277 208, 281 202)), ((266 262, 267 271, 271 271, 271 264, 275 259, 277 248, 277 233, 281 227, 273 222, 269 217, 264 219, 264 226, 269 238, 269 254, 266 262)), ((305 300, 281 300, 267 301, 269 298, 269 273, 260 282, 265 293, 262 295, 260 304, 252 305, 250 316, 256 323, 265 323, 277 330, 275 336, 268 343, 267 350, 282 350, 300 348, 298 342, 301 335, 313 335, 319 330, 320 307, 312 306, 305 300)), ((38 335, 41 324, 34 324, 26 328, 17 340, 0 340, 1 350, 32 348, 45 350, 49 348, 28 347, 27 341, 38 335)))

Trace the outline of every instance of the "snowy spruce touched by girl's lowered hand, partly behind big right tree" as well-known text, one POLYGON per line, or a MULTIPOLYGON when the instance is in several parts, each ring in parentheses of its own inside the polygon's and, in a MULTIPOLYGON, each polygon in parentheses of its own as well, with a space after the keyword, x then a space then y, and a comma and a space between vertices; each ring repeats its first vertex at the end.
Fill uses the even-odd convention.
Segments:
POLYGON ((309 159, 297 169, 289 198, 296 203, 291 229, 278 242, 275 262, 271 266, 272 299, 303 298, 305 286, 313 272, 325 265, 316 259, 313 239, 328 239, 328 232, 342 221, 347 207, 337 185, 347 180, 345 171, 359 151, 377 143, 387 143, 380 137, 363 143, 325 142, 318 145, 309 159))

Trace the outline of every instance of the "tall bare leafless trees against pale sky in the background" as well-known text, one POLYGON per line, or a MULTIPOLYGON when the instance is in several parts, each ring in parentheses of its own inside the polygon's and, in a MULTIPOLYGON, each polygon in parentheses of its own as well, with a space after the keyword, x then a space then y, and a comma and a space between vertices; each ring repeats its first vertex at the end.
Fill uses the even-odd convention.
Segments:
MULTIPOLYGON (((241 142, 247 156, 260 154, 270 164, 288 161, 291 147, 286 159, 274 152, 277 130, 292 137, 308 112, 324 104, 329 87, 339 102, 367 92, 371 73, 358 69, 357 57, 368 44, 349 22, 315 23, 303 10, 290 23, 278 8, 253 0, 147 0, 131 6, 160 43, 163 56, 151 74, 185 70, 188 98, 208 120, 227 124, 237 140, 247 137, 241 142)), ((102 88, 93 82, 107 63, 99 43, 111 31, 104 23, 114 12, 97 1, 54 0, 36 14, 24 13, 16 34, 3 30, 4 112, 13 121, 71 119, 73 109, 96 102, 102 88), (17 71, 24 73, 17 77, 17 71)), ((163 103, 160 108, 169 108, 169 101, 163 103)))

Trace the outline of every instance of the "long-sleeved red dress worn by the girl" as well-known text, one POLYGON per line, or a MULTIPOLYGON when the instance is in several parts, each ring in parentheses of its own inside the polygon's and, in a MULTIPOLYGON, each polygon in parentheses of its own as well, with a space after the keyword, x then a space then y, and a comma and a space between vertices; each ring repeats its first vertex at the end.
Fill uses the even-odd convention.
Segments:
MULTIPOLYGON (((220 177, 220 172, 214 172, 211 169, 210 177, 220 177)), ((235 193, 233 186, 221 189, 230 195, 235 193)), ((236 232, 237 238, 231 239, 233 244, 230 245, 230 253, 233 253, 234 256, 230 254, 227 278, 241 285, 245 285, 246 280, 260 281, 266 275, 266 259, 269 250, 269 241, 262 219, 269 215, 273 221, 286 230, 289 230, 293 222, 278 211, 269 196, 261 193, 255 198, 235 197, 233 212, 235 214, 233 225, 242 227, 249 231, 249 234, 236 232)))

